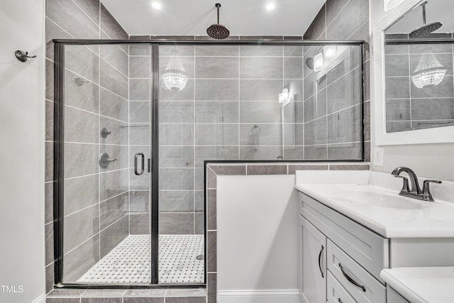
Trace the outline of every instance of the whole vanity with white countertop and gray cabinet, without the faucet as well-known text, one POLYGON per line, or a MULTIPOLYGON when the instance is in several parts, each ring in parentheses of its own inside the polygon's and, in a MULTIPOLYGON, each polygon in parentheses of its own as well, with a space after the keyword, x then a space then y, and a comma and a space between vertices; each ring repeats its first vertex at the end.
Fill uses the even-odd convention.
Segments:
POLYGON ((434 202, 394 184, 382 172, 297 172, 304 303, 453 302, 454 182, 434 202))

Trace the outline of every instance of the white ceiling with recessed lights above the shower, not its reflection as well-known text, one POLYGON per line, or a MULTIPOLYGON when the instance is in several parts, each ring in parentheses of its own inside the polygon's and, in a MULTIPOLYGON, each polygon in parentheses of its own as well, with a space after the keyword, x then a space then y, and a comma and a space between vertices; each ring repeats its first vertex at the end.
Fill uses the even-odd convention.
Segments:
POLYGON ((326 0, 101 0, 129 35, 206 35, 219 23, 231 35, 303 35, 326 0), (152 1, 162 5, 152 8, 152 1), (273 2, 274 11, 266 11, 273 2))

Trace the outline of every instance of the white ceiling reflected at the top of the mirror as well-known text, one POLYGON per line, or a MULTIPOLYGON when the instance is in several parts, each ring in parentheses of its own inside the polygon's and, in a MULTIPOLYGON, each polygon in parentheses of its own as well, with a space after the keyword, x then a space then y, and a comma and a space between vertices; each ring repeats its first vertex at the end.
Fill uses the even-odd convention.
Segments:
MULTIPOLYGON (((453 12, 453 0, 427 0, 426 24, 441 22, 443 26, 434 33, 454 33, 453 12)), ((386 33, 411 33, 421 26, 423 26, 423 11, 421 6, 417 6, 404 18, 390 26, 386 33)))

